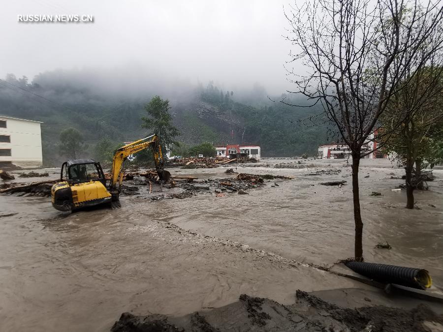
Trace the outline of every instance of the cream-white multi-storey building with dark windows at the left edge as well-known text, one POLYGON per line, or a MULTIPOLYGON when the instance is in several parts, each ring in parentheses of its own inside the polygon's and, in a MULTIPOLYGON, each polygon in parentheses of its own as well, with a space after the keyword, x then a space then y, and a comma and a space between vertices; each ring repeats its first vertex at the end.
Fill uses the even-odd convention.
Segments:
POLYGON ((43 164, 40 123, 0 115, 0 165, 38 167, 43 164))

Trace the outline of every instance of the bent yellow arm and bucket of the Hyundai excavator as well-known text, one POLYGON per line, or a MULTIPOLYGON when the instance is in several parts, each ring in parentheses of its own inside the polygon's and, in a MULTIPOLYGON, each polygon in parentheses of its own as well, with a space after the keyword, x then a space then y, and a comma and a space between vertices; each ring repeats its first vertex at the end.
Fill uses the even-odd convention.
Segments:
POLYGON ((157 135, 151 135, 141 140, 129 143, 114 152, 112 159, 111 169, 111 183, 109 186, 110 193, 113 201, 118 201, 118 195, 121 190, 121 184, 123 181, 123 163, 126 158, 134 153, 151 148, 154 155, 154 161, 156 164, 156 170, 160 181, 168 181, 171 174, 168 171, 163 170, 164 161, 161 153, 161 146, 158 142, 157 135), (117 185, 118 184, 118 185, 117 185))

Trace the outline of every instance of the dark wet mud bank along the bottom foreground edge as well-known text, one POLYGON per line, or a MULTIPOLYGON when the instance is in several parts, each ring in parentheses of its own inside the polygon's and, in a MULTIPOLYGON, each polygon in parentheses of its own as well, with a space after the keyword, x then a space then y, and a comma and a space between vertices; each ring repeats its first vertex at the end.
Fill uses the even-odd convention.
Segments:
POLYGON ((440 331, 443 315, 419 304, 406 310, 385 306, 343 308, 297 290, 297 301, 283 305, 241 295, 238 302, 183 317, 123 313, 112 332, 141 331, 440 331))

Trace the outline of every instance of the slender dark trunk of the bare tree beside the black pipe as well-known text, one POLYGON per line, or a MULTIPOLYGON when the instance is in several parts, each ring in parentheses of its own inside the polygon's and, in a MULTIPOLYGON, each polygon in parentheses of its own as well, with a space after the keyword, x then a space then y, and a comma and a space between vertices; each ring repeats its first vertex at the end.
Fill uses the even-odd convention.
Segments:
POLYGON ((360 165, 360 153, 352 153, 352 198, 354 203, 354 222, 355 222, 355 260, 363 261, 363 221, 360 212, 360 192, 358 188, 358 167, 360 165))

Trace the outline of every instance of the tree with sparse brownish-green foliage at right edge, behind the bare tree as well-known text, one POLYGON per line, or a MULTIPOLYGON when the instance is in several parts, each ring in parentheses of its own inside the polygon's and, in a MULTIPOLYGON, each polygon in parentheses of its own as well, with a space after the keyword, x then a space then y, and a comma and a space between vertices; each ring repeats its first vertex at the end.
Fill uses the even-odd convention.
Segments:
POLYGON ((405 167, 406 207, 413 209, 413 191, 423 189, 420 179, 423 161, 433 158, 433 147, 436 142, 441 142, 443 67, 414 71, 400 84, 406 88, 394 93, 388 109, 380 117, 384 123, 381 133, 384 150, 394 152, 398 163, 405 167), (401 122, 401 125, 392 127, 393 122, 401 122), (415 174, 415 180, 412 174, 415 174))

